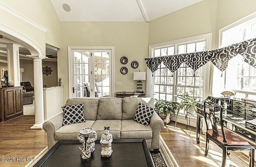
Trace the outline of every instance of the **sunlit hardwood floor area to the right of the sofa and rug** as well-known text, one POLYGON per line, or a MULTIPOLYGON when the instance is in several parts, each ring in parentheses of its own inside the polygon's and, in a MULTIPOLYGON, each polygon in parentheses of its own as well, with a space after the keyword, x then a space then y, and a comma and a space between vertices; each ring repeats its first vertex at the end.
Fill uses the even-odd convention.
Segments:
MULTIPOLYGON (((210 141, 208 156, 205 157, 205 135, 201 134, 200 144, 196 144, 196 128, 191 128, 191 135, 189 136, 189 130, 186 130, 186 125, 177 124, 176 128, 174 128, 174 123, 172 121, 170 125, 166 125, 160 134, 180 167, 221 166, 222 149, 220 147, 210 141)), ((247 158, 248 152, 245 153, 247 155, 242 152, 231 152, 227 156, 227 166, 248 167, 249 165, 238 158, 238 156, 247 158)))

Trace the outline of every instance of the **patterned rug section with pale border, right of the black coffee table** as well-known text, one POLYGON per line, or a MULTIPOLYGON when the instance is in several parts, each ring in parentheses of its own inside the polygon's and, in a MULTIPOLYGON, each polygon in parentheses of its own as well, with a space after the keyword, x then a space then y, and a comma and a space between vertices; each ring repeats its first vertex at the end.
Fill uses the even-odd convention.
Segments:
POLYGON ((155 167, 178 167, 178 163, 174 159, 170 149, 160 136, 160 149, 157 154, 151 152, 155 167))

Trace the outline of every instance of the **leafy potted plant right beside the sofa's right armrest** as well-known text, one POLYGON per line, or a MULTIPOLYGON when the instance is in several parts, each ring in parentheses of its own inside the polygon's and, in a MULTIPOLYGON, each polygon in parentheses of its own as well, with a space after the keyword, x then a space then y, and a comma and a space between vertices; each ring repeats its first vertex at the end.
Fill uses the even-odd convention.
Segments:
POLYGON ((164 124, 169 124, 171 122, 172 113, 175 114, 179 104, 179 102, 155 99, 155 111, 160 116, 160 118, 162 118, 164 124))

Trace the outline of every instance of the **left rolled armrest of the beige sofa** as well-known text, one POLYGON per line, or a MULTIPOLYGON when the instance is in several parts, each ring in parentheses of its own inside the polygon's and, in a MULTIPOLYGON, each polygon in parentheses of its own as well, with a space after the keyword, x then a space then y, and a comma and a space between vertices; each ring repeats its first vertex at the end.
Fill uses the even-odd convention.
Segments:
POLYGON ((48 143, 48 150, 57 143, 58 140, 55 140, 55 132, 59 128, 62 127, 63 122, 63 112, 54 116, 50 120, 44 122, 43 129, 47 133, 47 143, 48 143))

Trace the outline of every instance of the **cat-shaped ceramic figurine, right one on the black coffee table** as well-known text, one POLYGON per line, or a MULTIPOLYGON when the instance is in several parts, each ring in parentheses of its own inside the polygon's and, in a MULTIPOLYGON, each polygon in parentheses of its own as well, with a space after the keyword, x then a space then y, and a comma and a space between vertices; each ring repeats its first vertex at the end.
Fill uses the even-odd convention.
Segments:
POLYGON ((100 143, 102 145, 100 155, 102 157, 110 157, 112 155, 112 134, 109 133, 109 126, 104 127, 104 134, 100 138, 100 143))

